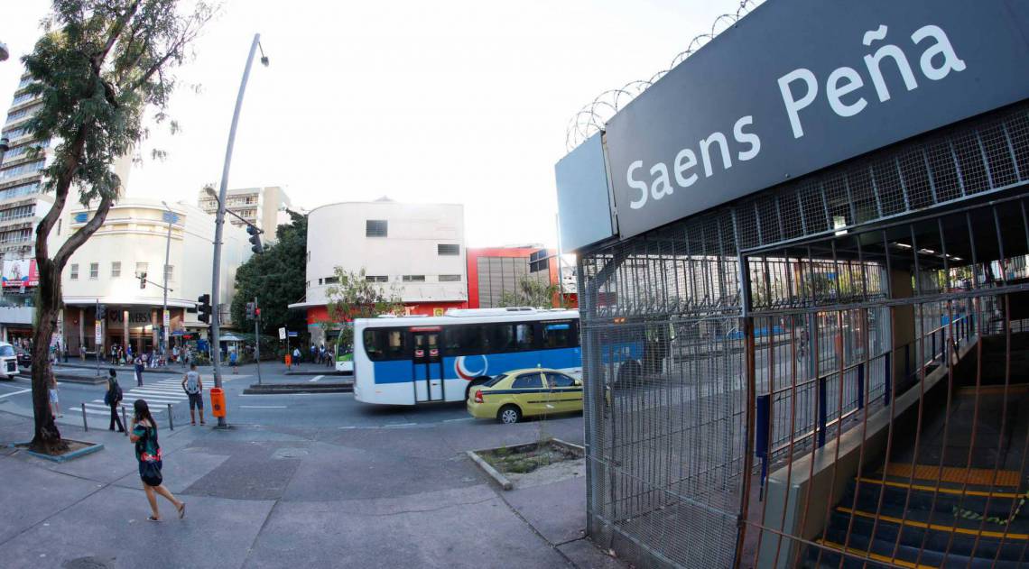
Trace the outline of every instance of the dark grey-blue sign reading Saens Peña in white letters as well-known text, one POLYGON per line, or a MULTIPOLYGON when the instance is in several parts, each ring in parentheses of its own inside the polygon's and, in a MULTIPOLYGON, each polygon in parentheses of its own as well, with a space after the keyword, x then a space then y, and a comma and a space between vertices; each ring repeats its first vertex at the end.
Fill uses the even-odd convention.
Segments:
POLYGON ((764 4, 608 122, 618 233, 1027 99, 1027 37, 1025 1, 764 4))

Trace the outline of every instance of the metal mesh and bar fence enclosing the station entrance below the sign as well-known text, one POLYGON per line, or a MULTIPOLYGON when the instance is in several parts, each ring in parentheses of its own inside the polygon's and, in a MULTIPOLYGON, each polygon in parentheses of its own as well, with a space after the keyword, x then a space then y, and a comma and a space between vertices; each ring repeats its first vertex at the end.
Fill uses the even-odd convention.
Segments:
MULTIPOLYGON (((835 508, 868 491, 839 482, 837 468, 860 480, 914 453, 914 472, 920 445, 948 443, 946 418, 943 441, 923 432, 937 417, 930 403, 954 403, 936 401, 935 385, 1010 383, 982 363, 1021 362, 1029 318, 1018 302, 1029 290, 1027 111, 965 121, 581 256, 592 537, 645 565, 907 563, 906 524, 895 524, 895 551, 877 553, 892 510, 830 532, 835 508), (998 334, 1016 340, 983 341, 998 334), (961 368, 969 357, 980 371, 961 368), (894 428, 914 410, 914 428, 894 428), (887 442, 873 447, 865 438, 880 419, 887 442), (804 481, 823 467, 839 484, 810 490, 804 481), (782 484, 803 491, 770 506, 782 484), (852 539, 870 520, 872 537, 852 539)), ((1005 388, 990 405, 1006 410, 1016 397, 1005 388)), ((974 462, 936 454, 941 468, 974 462)), ((923 533, 913 555, 946 557, 950 546, 926 554, 923 533)))

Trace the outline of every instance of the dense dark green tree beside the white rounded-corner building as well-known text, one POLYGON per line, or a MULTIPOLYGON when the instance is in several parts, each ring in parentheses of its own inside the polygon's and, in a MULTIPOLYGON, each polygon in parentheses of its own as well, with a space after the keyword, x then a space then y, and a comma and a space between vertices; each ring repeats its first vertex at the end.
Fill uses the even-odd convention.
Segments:
POLYGON ((303 310, 290 310, 289 303, 304 299, 307 280, 308 218, 289 212, 292 222, 275 230, 276 243, 252 256, 236 272, 236 296, 229 310, 233 323, 244 332, 253 323, 244 319, 246 304, 257 299, 261 332, 279 337, 279 329, 303 330, 303 310))

